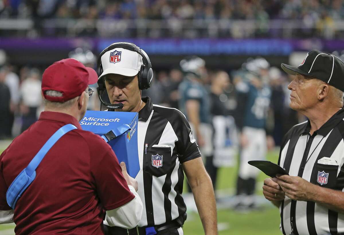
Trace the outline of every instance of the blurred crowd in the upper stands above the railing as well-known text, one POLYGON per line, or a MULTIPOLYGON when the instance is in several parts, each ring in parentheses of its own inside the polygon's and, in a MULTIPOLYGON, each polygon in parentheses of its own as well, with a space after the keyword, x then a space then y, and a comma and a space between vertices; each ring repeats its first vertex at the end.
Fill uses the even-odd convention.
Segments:
POLYGON ((344 18, 341 0, 1 0, 2 18, 344 18))

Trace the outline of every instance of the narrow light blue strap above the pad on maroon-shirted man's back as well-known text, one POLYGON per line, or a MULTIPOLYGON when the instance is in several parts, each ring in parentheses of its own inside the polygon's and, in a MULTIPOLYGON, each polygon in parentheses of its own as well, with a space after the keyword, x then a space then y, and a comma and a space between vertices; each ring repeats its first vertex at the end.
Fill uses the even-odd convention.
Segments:
POLYGON ((38 165, 40 165, 41 161, 43 160, 45 154, 50 150, 50 148, 67 132, 76 129, 76 126, 73 124, 67 124, 62 126, 58 129, 43 145, 43 147, 38 151, 36 156, 30 161, 29 165, 26 167, 26 174, 31 176, 32 173, 36 170, 38 165))

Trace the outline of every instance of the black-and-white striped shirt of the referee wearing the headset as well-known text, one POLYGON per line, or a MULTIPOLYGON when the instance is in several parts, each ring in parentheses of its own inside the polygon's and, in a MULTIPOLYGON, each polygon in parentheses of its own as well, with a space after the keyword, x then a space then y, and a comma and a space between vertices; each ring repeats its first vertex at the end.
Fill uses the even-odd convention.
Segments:
POLYGON ((177 109, 152 104, 139 111, 137 193, 143 202, 139 227, 170 222, 186 212, 181 164, 200 157, 185 116, 177 109))

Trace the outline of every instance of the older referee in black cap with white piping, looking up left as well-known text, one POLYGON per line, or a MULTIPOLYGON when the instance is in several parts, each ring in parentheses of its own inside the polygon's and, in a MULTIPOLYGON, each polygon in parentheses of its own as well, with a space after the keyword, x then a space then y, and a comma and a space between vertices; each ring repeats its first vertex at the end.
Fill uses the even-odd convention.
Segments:
POLYGON ((288 175, 264 181, 265 198, 280 208, 281 231, 344 233, 344 63, 313 50, 294 75, 290 107, 308 117, 284 136, 278 164, 288 175))

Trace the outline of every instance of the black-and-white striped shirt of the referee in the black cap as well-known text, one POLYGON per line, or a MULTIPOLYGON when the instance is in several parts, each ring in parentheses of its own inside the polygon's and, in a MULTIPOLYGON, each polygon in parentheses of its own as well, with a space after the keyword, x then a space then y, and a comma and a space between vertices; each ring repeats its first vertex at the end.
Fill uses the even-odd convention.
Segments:
MULTIPOLYGON (((344 109, 341 109, 313 135, 310 135, 309 121, 293 126, 283 138, 278 164, 291 176, 344 191, 343 118, 344 109)), ((291 226, 295 235, 344 233, 344 214, 315 202, 286 197, 280 214, 283 234, 289 235, 291 226)))

